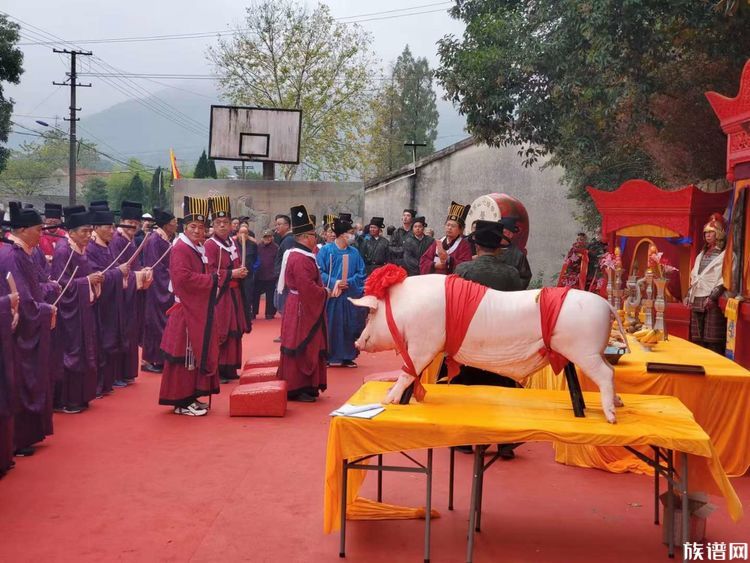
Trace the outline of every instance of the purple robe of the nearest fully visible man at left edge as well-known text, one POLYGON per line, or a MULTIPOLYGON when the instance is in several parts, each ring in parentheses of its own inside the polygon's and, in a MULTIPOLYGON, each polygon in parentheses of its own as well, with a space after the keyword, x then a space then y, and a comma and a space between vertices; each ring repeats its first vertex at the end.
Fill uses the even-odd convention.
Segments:
POLYGON ((52 434, 52 307, 44 302, 37 264, 20 246, 0 248, 0 272, 13 274, 20 298, 19 321, 13 334, 19 398, 14 441, 15 449, 23 449, 52 434))

